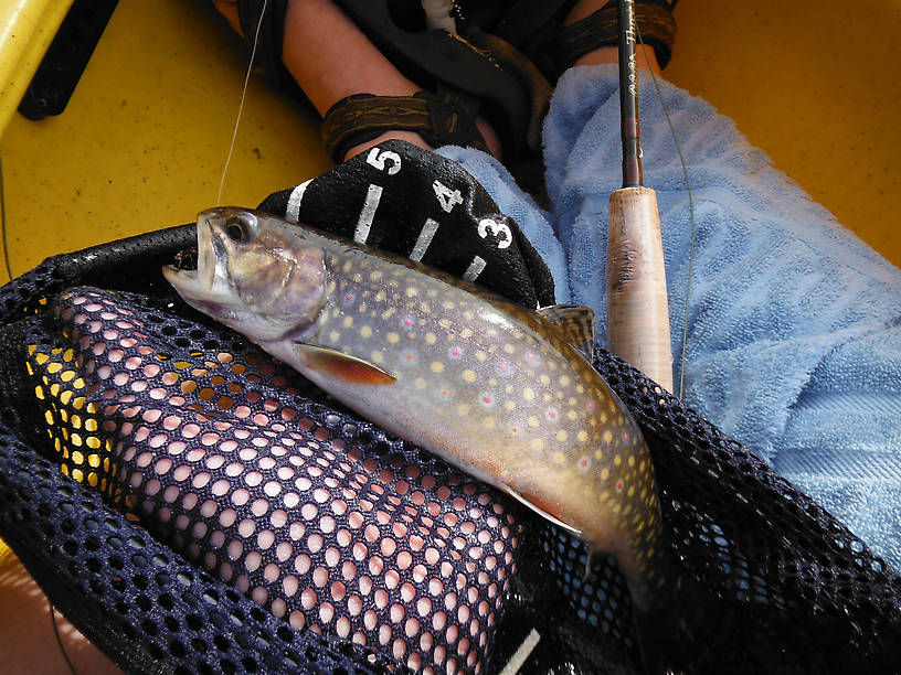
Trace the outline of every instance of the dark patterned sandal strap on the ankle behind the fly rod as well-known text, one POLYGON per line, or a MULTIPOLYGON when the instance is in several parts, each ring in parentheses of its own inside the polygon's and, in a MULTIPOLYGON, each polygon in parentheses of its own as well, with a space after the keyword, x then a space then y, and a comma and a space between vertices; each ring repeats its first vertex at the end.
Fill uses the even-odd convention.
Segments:
MULTIPOLYGON (((635 22, 642 40, 653 46, 657 63, 664 68, 672 57, 676 40, 676 20, 672 7, 666 0, 636 0, 635 22)), ((581 56, 602 46, 615 46, 619 41, 619 22, 616 2, 611 2, 596 12, 570 25, 563 26, 558 35, 556 58, 559 72, 572 66, 581 56)))

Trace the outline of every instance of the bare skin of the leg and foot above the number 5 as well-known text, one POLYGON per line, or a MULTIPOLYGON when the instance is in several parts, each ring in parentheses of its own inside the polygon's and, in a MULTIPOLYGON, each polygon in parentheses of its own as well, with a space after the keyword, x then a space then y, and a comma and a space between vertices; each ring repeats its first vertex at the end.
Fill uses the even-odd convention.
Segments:
MULTIPOLYGON (((237 0, 213 0, 231 26, 242 33, 237 0)), ((354 94, 412 96, 420 92, 360 32, 331 0, 292 0, 285 15, 283 61, 320 116, 339 100, 354 94)), ((476 126, 491 154, 500 157, 500 141, 481 118, 476 126)), ((389 139, 433 148, 416 132, 392 130, 352 147, 344 160, 389 139)))

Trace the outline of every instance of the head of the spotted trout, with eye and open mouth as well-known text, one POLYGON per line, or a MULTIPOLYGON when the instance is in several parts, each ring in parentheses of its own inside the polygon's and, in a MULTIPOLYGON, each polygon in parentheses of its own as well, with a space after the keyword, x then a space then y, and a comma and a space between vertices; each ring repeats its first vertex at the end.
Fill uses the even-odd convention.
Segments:
POLYGON ((230 206, 202 212, 197 237, 195 270, 162 269, 188 304, 257 342, 315 323, 325 304, 325 253, 303 228, 230 206))

